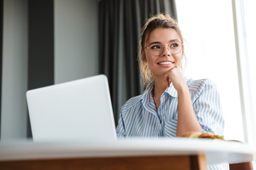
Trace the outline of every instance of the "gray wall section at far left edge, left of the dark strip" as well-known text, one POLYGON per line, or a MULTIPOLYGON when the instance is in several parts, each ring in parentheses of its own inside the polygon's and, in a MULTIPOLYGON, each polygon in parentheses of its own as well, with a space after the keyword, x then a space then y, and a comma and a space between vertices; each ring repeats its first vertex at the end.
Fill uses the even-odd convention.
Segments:
POLYGON ((1 140, 27 132, 28 19, 27 1, 4 1, 1 140))

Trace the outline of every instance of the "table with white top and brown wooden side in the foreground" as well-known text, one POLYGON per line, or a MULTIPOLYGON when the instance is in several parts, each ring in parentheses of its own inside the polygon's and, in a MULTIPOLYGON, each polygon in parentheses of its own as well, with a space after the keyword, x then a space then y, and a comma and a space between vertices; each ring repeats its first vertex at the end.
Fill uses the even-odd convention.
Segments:
POLYGON ((0 169, 206 169, 256 160, 256 147, 187 138, 108 142, 1 141, 0 169))

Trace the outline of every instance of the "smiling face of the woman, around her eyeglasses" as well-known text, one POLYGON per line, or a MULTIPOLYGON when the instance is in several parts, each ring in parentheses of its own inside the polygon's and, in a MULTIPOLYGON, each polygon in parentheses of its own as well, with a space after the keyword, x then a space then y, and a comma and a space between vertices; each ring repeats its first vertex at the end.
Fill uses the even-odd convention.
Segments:
POLYGON ((171 54, 167 46, 174 42, 174 47, 176 42, 181 42, 181 38, 178 37, 176 30, 173 28, 156 28, 152 30, 149 37, 146 40, 145 47, 159 48, 163 45, 164 51, 161 55, 152 55, 149 49, 145 49, 146 62, 149 69, 153 73, 154 78, 164 77, 164 74, 170 69, 178 66, 181 67, 181 62, 183 58, 182 50, 178 54, 171 54))

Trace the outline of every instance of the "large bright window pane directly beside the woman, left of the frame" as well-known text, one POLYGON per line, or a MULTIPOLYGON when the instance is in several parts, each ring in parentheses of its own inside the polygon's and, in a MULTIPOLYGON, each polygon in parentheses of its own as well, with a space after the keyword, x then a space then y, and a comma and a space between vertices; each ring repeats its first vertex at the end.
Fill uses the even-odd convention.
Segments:
POLYGON ((185 77, 210 79, 218 87, 225 139, 244 140, 231 1, 176 1, 186 40, 185 77))

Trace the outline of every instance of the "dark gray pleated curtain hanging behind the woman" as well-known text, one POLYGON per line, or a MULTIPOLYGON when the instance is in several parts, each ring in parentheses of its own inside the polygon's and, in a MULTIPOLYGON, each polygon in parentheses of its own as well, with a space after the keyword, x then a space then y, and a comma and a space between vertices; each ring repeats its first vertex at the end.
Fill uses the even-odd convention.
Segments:
POLYGON ((121 106, 143 92, 137 61, 142 26, 156 13, 177 18, 176 4, 174 0, 101 0, 99 11, 100 74, 107 75, 117 125, 121 106))

